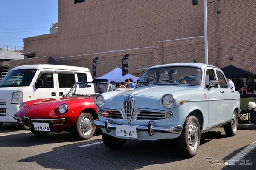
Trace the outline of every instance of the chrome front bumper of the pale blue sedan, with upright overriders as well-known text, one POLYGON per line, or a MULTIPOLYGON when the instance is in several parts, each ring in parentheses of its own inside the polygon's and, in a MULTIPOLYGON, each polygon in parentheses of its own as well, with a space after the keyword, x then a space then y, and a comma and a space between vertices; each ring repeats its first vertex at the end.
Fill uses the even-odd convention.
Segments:
MULTIPOLYGON (((110 132, 111 129, 116 129, 116 124, 113 124, 110 119, 105 120, 105 122, 100 122, 99 120, 94 120, 94 124, 96 127, 105 128, 107 132, 110 132)), ((147 126, 137 125, 137 131, 148 131, 150 136, 154 135, 154 132, 161 133, 181 133, 182 125, 174 126, 174 127, 157 127, 153 126, 154 121, 149 121, 147 126)))

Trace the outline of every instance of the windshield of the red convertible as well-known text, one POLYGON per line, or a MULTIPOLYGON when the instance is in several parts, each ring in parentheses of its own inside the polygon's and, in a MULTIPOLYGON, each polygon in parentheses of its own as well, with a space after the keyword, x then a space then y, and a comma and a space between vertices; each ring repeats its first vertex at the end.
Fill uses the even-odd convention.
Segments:
POLYGON ((70 89, 67 96, 85 96, 91 94, 102 94, 112 91, 109 83, 103 82, 79 82, 70 89))

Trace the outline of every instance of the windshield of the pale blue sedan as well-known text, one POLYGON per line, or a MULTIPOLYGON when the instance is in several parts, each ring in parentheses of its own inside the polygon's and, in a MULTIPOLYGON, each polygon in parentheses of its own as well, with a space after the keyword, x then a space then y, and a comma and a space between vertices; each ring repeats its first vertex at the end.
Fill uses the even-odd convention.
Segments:
POLYGON ((153 84, 200 85, 202 70, 200 68, 180 66, 153 68, 144 72, 136 86, 153 84))

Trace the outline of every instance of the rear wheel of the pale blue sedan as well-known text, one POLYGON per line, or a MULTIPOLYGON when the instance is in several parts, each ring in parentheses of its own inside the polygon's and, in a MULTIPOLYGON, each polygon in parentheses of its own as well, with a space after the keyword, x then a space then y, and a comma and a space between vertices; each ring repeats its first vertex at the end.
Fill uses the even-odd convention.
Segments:
POLYGON ((230 137, 235 136, 237 131, 237 126, 238 126, 238 118, 237 118, 237 112, 235 110, 233 111, 231 121, 226 125, 224 125, 224 131, 226 135, 230 137))

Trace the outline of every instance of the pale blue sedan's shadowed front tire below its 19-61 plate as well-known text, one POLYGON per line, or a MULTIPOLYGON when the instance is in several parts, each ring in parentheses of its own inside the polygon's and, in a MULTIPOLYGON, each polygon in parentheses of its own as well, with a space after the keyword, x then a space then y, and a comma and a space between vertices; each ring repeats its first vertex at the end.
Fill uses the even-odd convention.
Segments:
POLYGON ((102 141, 109 149, 118 149, 125 144, 126 139, 116 138, 102 132, 102 141))

